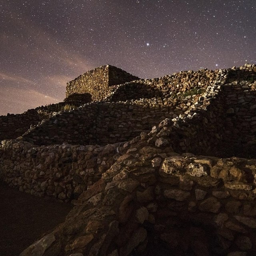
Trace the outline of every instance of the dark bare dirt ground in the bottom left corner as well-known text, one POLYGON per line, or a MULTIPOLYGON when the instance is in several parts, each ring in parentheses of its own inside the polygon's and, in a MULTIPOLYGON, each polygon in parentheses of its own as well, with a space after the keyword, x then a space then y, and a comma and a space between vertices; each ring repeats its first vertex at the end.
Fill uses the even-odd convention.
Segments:
POLYGON ((71 209, 71 204, 38 198, 0 181, 0 256, 18 256, 41 234, 64 222, 71 209))

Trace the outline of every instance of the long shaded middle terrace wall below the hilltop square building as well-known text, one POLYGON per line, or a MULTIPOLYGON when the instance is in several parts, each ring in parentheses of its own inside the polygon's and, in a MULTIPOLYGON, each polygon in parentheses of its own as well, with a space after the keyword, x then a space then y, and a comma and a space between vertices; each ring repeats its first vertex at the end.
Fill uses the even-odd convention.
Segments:
POLYGON ((44 120, 22 137, 37 145, 124 142, 141 132, 149 132, 160 120, 182 112, 173 106, 160 107, 159 104, 157 101, 151 104, 145 101, 88 104, 44 120))

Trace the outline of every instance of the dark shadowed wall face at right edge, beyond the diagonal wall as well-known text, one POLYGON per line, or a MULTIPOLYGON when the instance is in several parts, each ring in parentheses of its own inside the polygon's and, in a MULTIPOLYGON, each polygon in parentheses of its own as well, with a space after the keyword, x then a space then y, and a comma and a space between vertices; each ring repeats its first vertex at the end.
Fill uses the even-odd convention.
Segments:
POLYGON ((222 150, 226 157, 256 158, 256 90, 246 84, 243 87, 224 86, 222 150))

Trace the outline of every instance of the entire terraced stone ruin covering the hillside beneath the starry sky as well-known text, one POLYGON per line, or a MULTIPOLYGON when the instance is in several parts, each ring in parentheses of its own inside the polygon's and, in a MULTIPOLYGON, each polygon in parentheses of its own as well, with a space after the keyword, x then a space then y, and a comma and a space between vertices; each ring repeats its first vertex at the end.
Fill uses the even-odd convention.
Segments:
POLYGON ((21 256, 255 255, 254 64, 154 79, 102 66, 58 108, 0 117, 0 178, 74 204, 21 256))

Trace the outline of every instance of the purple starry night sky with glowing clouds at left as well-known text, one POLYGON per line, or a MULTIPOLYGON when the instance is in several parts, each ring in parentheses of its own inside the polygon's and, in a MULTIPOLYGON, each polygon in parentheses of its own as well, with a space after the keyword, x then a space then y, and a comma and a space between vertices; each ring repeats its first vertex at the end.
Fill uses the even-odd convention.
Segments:
POLYGON ((155 78, 256 63, 255 0, 0 0, 0 115, 110 64, 155 78))

